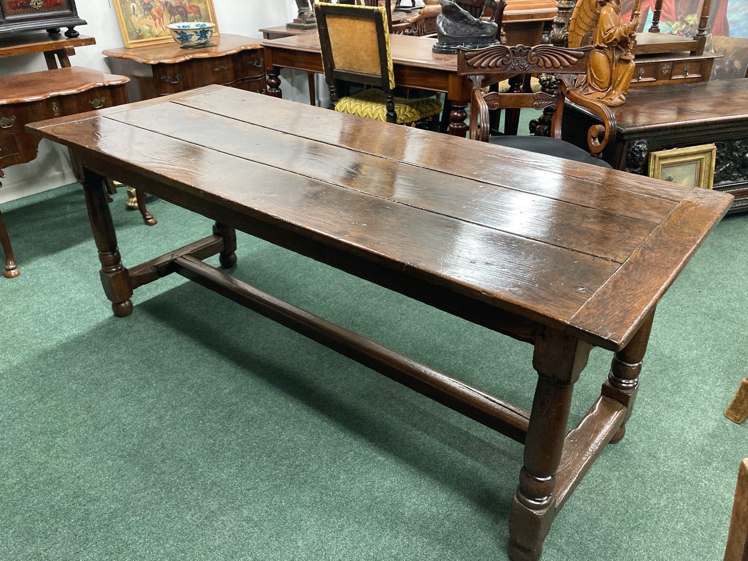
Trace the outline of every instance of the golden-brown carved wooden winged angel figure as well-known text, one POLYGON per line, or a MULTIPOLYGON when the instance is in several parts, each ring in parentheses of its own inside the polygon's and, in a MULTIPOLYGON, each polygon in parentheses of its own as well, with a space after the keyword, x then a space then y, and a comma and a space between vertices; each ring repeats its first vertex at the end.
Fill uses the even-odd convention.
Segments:
MULTIPOLYGON (((635 15, 628 23, 621 21, 619 0, 579 0, 571 16, 568 46, 592 45, 586 76, 577 84, 583 95, 611 107, 623 105, 634 77, 634 57, 628 49, 639 25, 635 15)), ((635 37, 635 36, 634 36, 635 37)))

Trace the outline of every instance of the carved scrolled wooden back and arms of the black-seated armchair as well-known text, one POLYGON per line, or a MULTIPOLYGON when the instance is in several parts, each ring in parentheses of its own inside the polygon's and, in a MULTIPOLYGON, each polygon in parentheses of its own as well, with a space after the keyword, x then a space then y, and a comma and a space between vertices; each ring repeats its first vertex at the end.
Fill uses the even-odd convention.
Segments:
POLYGON ((561 138, 561 123, 565 99, 591 109, 604 121, 604 125, 594 125, 589 129, 590 152, 600 153, 615 138, 616 118, 610 108, 595 99, 582 96, 569 85, 576 76, 585 74, 589 55, 594 47, 565 49, 553 45, 538 45, 532 48, 524 45, 493 45, 485 49, 457 48, 457 74, 470 76, 473 81, 473 102, 477 111, 470 111, 470 138, 488 141, 488 110, 504 108, 545 109, 555 107, 551 137, 561 138), (555 93, 483 93, 483 82, 491 82, 491 77, 506 79, 509 76, 532 74, 556 74, 559 88, 555 93), (499 76, 497 76, 499 75, 499 76), (574 76, 576 75, 576 76, 574 76), (489 79, 486 79, 486 78, 489 79), (479 121, 478 121, 479 120, 479 121), (600 139, 601 135, 604 135, 600 139))

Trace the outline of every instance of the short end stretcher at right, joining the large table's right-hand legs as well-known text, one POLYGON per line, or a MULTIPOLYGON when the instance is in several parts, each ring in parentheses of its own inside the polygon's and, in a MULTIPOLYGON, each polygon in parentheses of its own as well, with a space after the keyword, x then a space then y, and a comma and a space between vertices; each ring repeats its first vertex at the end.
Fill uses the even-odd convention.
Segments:
POLYGON ((577 427, 566 435, 561 464, 556 474, 555 512, 559 512, 568 497, 571 497, 625 417, 625 405, 610 397, 600 396, 577 427))

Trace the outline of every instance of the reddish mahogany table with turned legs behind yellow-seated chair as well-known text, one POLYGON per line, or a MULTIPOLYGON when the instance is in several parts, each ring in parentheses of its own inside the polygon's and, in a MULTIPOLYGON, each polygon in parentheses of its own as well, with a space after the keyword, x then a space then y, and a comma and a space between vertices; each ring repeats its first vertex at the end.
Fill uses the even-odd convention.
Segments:
MULTIPOLYGON (((465 108, 470 103, 472 88, 468 76, 457 76, 457 55, 435 55, 431 48, 435 39, 390 34, 390 49, 395 70, 395 84, 414 90, 447 93, 452 104, 450 135, 465 136, 468 125, 465 108)), ((306 33, 280 39, 263 40, 265 70, 268 75, 266 93, 281 97, 281 68, 324 74, 319 34, 306 33)))

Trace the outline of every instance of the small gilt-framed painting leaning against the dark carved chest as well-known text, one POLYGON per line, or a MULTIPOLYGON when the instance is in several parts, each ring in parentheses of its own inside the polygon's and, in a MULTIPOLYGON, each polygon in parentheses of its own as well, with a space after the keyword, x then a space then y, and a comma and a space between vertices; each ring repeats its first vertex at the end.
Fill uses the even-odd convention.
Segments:
POLYGON ((649 177, 711 189, 714 186, 715 159, 717 147, 714 144, 652 152, 649 155, 649 177))

